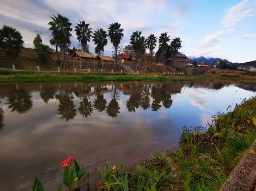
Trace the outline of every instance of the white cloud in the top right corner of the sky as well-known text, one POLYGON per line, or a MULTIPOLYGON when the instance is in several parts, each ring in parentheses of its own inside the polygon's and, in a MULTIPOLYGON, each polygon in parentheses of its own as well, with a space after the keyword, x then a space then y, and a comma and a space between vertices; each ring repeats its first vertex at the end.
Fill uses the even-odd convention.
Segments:
POLYGON ((255 14, 255 1, 243 0, 241 3, 234 5, 227 10, 223 17, 222 25, 224 27, 231 27, 238 23, 245 17, 251 17, 255 14))

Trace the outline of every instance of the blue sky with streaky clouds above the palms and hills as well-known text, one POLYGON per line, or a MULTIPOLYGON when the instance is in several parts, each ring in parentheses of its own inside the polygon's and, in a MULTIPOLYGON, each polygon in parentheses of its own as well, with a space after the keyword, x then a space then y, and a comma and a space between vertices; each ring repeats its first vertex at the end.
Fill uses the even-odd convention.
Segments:
MULTIPOLYGON (((93 31, 120 23, 122 47, 136 30, 146 38, 168 32, 170 39, 181 38, 181 51, 187 56, 239 63, 256 60, 256 0, 1 0, 0 27, 20 31, 25 47, 33 47, 36 32, 50 45, 48 22, 57 13, 67 16, 73 28, 79 20, 90 23, 93 31)), ((71 48, 78 44, 74 30, 72 35, 71 48)), ((112 46, 108 39, 104 55, 112 55, 112 46)), ((91 52, 94 47, 91 40, 91 52)))

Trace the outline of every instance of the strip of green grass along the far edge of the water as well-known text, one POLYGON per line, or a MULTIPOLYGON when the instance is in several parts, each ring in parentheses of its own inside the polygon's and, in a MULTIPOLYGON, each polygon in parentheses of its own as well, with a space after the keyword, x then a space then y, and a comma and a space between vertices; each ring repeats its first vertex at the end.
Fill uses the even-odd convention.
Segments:
POLYGON ((202 76, 109 73, 35 73, 0 72, 0 82, 55 82, 55 81, 199 81, 202 76))

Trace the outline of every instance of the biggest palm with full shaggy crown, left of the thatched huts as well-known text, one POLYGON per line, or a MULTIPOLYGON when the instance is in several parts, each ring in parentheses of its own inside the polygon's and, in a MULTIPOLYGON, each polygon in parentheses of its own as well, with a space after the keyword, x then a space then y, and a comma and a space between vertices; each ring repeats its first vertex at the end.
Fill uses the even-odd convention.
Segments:
POLYGON ((49 30, 52 31, 52 36, 56 44, 71 44, 69 38, 72 37, 72 24, 69 22, 69 19, 60 14, 57 14, 57 16, 53 15, 50 18, 52 21, 48 23, 50 25, 49 30))

